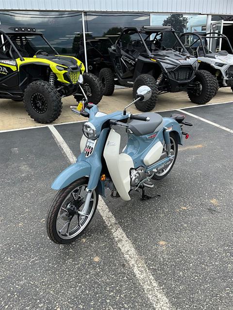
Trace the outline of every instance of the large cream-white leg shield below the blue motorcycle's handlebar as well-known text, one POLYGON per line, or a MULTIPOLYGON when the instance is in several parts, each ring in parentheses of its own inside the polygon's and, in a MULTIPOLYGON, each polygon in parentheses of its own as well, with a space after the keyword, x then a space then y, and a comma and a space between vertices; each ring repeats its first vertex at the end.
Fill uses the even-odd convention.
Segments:
POLYGON ((124 201, 129 201, 130 196, 130 169, 133 168, 133 159, 124 153, 119 154, 120 135, 111 129, 106 141, 103 157, 116 190, 124 201))

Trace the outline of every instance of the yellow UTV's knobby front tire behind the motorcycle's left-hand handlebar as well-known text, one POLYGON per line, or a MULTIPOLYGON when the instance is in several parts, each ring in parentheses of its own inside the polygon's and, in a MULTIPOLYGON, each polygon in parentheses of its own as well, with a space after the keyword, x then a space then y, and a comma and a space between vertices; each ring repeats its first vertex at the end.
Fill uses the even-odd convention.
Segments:
MULTIPOLYGON (((83 88, 89 102, 98 105, 103 96, 103 88, 100 79, 92 73, 84 73, 83 85, 81 85, 81 87, 83 88)), ((83 98, 83 93, 81 90, 80 94, 82 95, 74 95, 77 102, 83 98)))

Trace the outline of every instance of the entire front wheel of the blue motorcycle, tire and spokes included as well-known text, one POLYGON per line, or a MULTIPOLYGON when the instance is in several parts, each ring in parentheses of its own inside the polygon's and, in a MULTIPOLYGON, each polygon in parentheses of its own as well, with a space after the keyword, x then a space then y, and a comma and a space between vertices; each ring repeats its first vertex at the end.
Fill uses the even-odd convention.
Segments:
POLYGON ((77 239, 92 220, 99 201, 97 188, 92 192, 85 216, 82 215, 86 199, 88 178, 81 178, 61 189, 48 211, 47 233, 54 243, 65 244, 77 239))

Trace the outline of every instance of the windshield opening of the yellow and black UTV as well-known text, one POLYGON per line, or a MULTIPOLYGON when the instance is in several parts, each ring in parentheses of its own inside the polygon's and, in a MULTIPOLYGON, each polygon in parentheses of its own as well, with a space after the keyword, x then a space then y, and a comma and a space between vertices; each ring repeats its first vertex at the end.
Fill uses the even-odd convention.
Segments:
MULTIPOLYGON (((54 55, 55 53, 43 36, 39 34, 9 34, 9 38, 22 57, 33 57, 38 51, 38 54, 43 54, 44 52, 44 55, 54 55)), ((18 58, 14 49, 11 52, 13 58, 18 58)))

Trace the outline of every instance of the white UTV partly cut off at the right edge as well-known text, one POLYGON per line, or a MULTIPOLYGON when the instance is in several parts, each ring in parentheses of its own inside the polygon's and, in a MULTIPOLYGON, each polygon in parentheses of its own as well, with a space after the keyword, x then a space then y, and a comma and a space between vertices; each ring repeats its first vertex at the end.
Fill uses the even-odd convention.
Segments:
POLYGON ((233 48, 227 36, 218 32, 186 32, 180 39, 188 52, 197 57, 198 70, 209 71, 219 88, 231 87, 233 91, 233 48))

